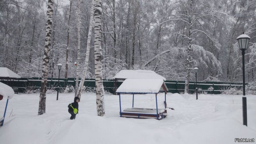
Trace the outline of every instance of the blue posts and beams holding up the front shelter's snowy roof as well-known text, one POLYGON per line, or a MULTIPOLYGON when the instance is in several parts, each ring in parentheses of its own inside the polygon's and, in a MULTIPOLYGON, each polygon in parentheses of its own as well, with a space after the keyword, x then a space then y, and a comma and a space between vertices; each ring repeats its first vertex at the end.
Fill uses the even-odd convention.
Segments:
MULTIPOLYGON (((165 91, 159 91, 159 92, 164 92, 164 108, 166 108, 166 92, 165 91)), ((156 118, 157 120, 159 120, 158 117, 158 107, 157 107, 157 94, 159 93, 155 93, 156 94, 156 118)), ((127 92, 118 92, 119 93, 119 107, 120 107, 120 117, 122 116, 122 109, 121 109, 121 93, 127 93, 127 92)), ((132 108, 133 108, 133 104, 134 104, 134 94, 148 94, 149 92, 143 93, 143 92, 132 92, 132 108)))

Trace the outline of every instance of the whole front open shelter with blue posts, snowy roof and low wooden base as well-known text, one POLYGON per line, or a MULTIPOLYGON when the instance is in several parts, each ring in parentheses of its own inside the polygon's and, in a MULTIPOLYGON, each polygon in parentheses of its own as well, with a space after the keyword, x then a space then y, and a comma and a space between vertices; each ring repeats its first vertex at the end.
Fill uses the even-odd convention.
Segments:
POLYGON ((166 102, 166 93, 168 89, 163 79, 125 79, 116 90, 119 94, 120 117, 129 118, 154 118, 161 120, 167 116, 166 105, 164 109, 157 107, 157 94, 164 92, 164 102, 166 102), (132 108, 121 108, 121 94, 132 94, 132 108), (134 94, 152 93, 156 95, 156 108, 134 108, 134 94))

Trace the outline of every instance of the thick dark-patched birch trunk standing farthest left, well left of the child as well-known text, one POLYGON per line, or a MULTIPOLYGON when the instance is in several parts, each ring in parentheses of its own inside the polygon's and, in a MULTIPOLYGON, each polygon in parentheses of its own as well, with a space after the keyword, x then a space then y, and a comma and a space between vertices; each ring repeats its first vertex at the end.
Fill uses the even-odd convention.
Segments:
POLYGON ((46 36, 44 45, 44 59, 43 59, 43 70, 42 70, 42 81, 39 99, 38 115, 45 113, 45 100, 46 100, 46 85, 48 76, 48 64, 49 64, 49 52, 51 47, 51 35, 52 35, 52 12, 53 12, 53 1, 48 0, 47 6, 47 21, 46 21, 46 36))

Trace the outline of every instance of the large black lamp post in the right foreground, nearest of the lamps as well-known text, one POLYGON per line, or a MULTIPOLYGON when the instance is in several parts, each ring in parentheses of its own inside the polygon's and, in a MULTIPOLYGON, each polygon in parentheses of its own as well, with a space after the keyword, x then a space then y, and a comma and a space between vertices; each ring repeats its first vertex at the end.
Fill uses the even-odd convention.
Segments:
POLYGON ((244 51, 247 49, 247 46, 249 44, 249 40, 251 39, 250 36, 247 35, 240 35, 236 38, 238 40, 238 44, 240 47, 240 50, 242 51, 242 59, 243 59, 243 124, 247 126, 247 102, 245 97, 245 72, 244 72, 244 51))

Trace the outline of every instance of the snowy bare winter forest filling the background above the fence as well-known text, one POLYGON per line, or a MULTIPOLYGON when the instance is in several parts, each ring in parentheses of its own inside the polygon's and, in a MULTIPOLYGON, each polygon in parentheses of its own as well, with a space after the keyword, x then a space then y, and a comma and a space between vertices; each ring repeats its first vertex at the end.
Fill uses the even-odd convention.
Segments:
MULTIPOLYGON (((92 0, 81 0, 81 10, 79 3, 53 1, 48 77, 58 77, 59 63, 60 78, 76 77, 74 62, 82 75, 92 0)), ((241 82, 236 37, 244 32, 251 37, 245 81, 255 81, 255 0, 102 0, 101 7, 104 79, 122 69, 146 69, 168 80, 195 80, 197 67, 197 81, 241 82)), ((0 1, 0 67, 42 76, 46 10, 44 0, 0 1)), ((95 78, 94 28, 91 37, 86 78, 95 78)))

